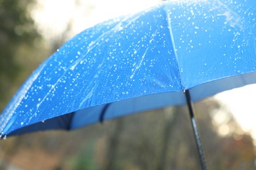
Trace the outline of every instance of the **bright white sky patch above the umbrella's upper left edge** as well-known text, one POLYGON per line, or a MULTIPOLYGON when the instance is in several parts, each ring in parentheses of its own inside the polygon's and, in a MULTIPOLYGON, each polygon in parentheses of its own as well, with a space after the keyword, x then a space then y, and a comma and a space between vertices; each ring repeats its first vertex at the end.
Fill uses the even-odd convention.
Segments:
POLYGON ((32 10, 32 16, 39 31, 52 39, 58 36, 67 22, 72 20, 75 34, 99 22, 117 16, 139 12, 156 5, 161 0, 37 0, 38 5, 32 10), (74 3, 75 2, 75 3, 74 3))

